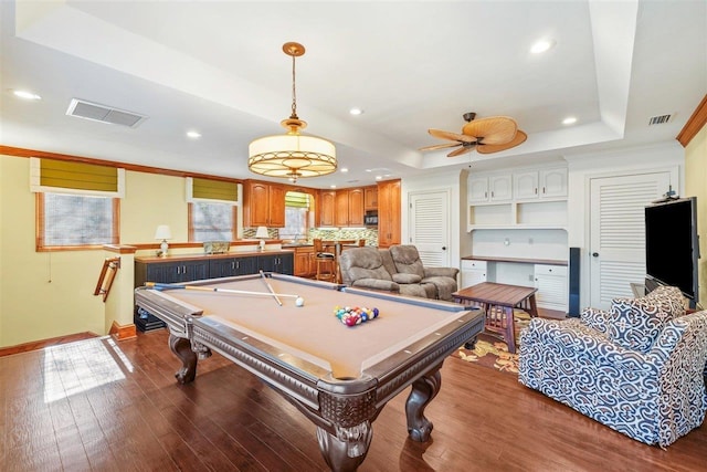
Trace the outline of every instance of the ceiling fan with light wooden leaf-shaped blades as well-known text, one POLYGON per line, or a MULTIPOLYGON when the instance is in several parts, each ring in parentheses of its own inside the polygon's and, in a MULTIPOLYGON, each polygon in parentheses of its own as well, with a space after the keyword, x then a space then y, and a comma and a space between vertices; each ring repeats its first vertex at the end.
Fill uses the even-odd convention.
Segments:
POLYGON ((479 154, 492 154, 510 149, 524 143, 528 135, 518 129, 515 119, 507 116, 492 116, 489 118, 474 119, 475 113, 465 113, 467 122, 462 128, 462 134, 443 132, 441 129, 428 129, 435 138, 449 139, 455 143, 437 144, 420 148, 420 150, 436 150, 447 147, 457 147, 447 154, 447 157, 456 157, 476 149, 479 154))

